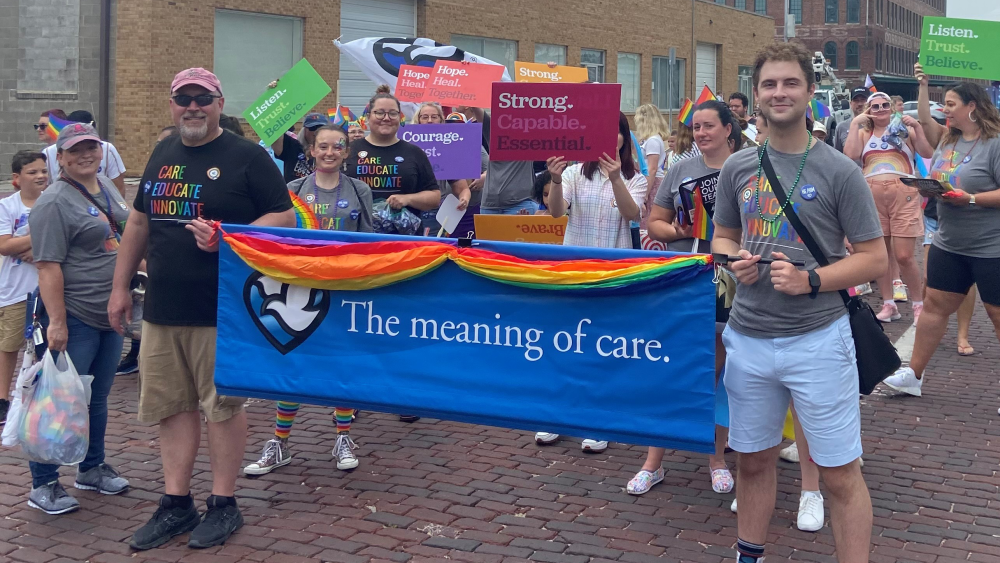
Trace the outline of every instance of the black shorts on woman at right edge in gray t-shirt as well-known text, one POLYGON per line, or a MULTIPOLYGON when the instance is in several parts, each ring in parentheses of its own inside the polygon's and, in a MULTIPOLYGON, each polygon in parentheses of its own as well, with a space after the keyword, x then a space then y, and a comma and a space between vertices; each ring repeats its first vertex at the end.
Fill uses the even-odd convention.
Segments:
POLYGON ((927 287, 948 293, 969 293, 979 287, 983 303, 1000 307, 1000 258, 975 258, 931 245, 927 253, 927 287))

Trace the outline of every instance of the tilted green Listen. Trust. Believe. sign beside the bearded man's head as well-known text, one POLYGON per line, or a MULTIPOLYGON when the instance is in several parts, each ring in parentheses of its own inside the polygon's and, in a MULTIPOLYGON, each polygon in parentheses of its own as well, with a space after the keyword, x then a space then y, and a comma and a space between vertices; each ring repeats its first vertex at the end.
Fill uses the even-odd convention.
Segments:
POLYGON ((260 140, 270 145, 329 93, 323 77, 302 59, 278 79, 277 87, 261 94, 243 117, 260 140))

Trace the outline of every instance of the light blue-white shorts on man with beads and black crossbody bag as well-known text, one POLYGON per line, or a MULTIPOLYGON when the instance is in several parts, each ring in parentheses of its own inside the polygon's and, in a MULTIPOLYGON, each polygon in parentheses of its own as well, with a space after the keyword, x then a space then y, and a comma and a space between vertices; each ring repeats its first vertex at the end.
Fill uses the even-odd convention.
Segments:
POLYGON ((854 338, 847 314, 800 336, 753 338, 727 327, 729 445, 754 453, 781 443, 788 400, 817 465, 861 457, 861 405, 854 338))

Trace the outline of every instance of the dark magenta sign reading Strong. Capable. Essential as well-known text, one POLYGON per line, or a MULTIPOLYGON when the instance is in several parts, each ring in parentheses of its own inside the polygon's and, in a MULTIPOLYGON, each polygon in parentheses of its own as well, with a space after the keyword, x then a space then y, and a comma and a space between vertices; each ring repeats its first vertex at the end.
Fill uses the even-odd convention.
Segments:
POLYGON ((621 91, 621 84, 494 82, 490 159, 614 156, 621 91))

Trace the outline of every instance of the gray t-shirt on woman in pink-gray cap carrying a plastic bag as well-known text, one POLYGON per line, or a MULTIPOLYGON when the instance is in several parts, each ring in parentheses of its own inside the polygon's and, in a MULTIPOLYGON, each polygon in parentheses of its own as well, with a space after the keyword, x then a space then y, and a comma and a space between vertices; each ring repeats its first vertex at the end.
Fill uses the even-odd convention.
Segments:
POLYGON ((111 330, 108 297, 119 238, 102 210, 110 203, 120 236, 129 208, 110 180, 98 180, 103 193, 94 196, 96 206, 65 181, 53 182, 31 209, 28 227, 35 261, 62 266, 66 311, 96 329, 111 330))

